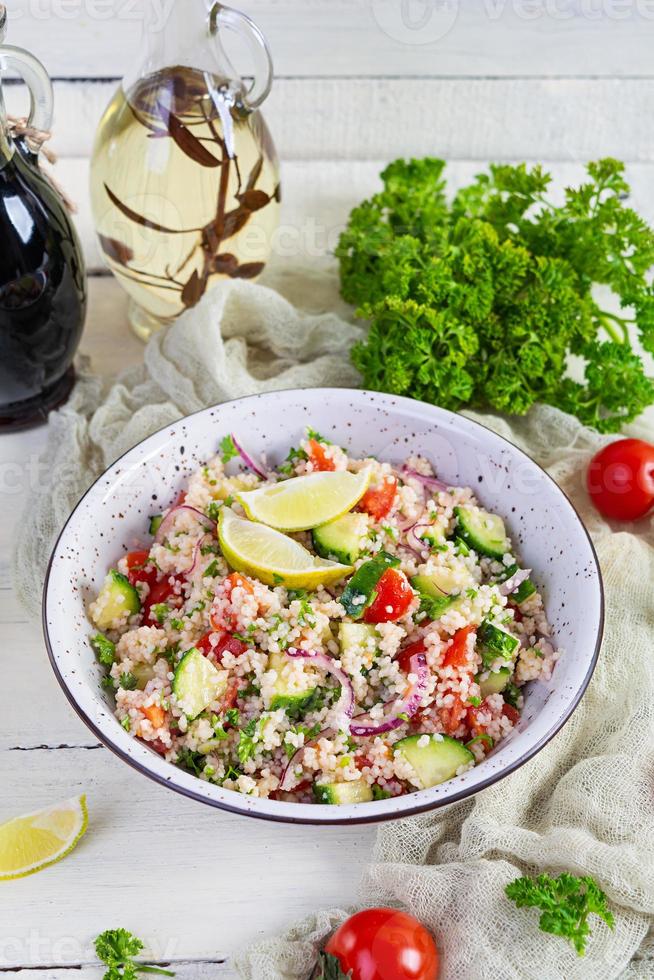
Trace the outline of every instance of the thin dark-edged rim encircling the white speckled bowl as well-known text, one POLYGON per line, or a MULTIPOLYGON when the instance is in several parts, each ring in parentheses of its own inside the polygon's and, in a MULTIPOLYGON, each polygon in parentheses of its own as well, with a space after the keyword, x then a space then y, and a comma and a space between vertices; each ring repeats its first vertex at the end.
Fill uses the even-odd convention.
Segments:
MULTIPOLYGON (((590 536, 588 529, 586 528, 586 525, 582 521, 579 512, 577 511, 577 508, 574 506, 574 504, 572 503, 568 495, 565 493, 565 491, 558 485, 556 480, 554 480, 554 478, 550 476, 547 470, 545 470, 540 465, 540 463, 537 463, 531 456, 529 456, 528 453, 526 453, 519 446, 516 446, 515 443, 511 442, 509 439, 506 439, 498 432, 495 432, 494 429, 491 429, 489 426, 484 425, 482 422, 479 422, 476 419, 471 419, 468 416, 462 415, 459 412, 452 412, 449 409, 441 408, 438 405, 431 405, 427 402, 423 402, 415 398, 406 398, 399 395, 390 395, 385 392, 375 392, 365 388, 335 388, 335 387, 280 388, 280 389, 274 389, 272 391, 260 392, 253 395, 243 395, 239 398, 231 398, 225 402, 218 402, 214 405, 208 405, 205 408, 199 409, 197 412, 192 412, 189 415, 181 416, 179 419, 169 422, 166 425, 162 426, 161 428, 156 429, 154 432, 149 433, 147 436, 145 436, 143 439, 137 442, 134 446, 131 446, 124 453, 121 453, 121 455, 118 456, 115 460, 113 460, 109 464, 109 466, 107 466, 103 470, 103 472, 93 481, 93 483, 85 490, 85 492, 82 494, 82 496, 75 504, 68 518, 66 519, 61 531, 57 535, 56 541, 52 548, 52 552, 48 559, 45 579, 43 583, 42 602, 41 602, 41 622, 42 622, 43 636, 45 640, 46 649, 48 652, 48 659, 50 661, 50 665, 55 674, 55 677, 57 678, 59 686, 62 688, 68 702, 70 703, 70 705, 72 706, 72 708, 74 709, 78 717, 84 722, 87 728, 90 729, 90 731, 96 736, 96 738, 102 743, 102 745, 105 746, 105 748, 108 748, 114 755, 118 756, 118 758, 121 759, 123 762, 126 762, 132 769, 136 770, 141 775, 146 776, 148 779, 152 780, 158 785, 164 786, 167 789, 171 789, 175 793, 178 793, 179 795, 184 796, 188 799, 195 800, 198 803, 203 803, 205 806, 210 806, 213 809, 234 813, 237 814, 238 816, 250 817, 257 820, 265 820, 272 823, 302 824, 302 825, 312 825, 312 826, 322 826, 322 825, 350 826, 350 825, 359 825, 359 824, 365 825, 365 824, 387 823, 393 820, 402 820, 405 817, 412 817, 423 813, 429 813, 431 811, 447 808, 452 804, 460 803, 463 800, 470 799, 476 796, 478 793, 481 793, 483 790, 488 789, 490 786, 495 785, 495 783, 500 782, 506 776, 509 776, 512 773, 516 772, 523 765, 525 765, 527 762, 533 759, 534 756, 536 756, 549 742, 552 741, 552 739, 556 735, 558 735, 558 733, 567 724, 567 722, 570 720, 571 716, 579 706, 579 702, 581 701, 582 697, 586 693, 588 685, 590 684, 591 678, 597 666, 597 661, 599 659, 599 653, 604 638, 605 618, 606 618, 606 600, 605 600, 605 592, 604 592, 604 581, 602 577, 602 570, 601 570, 599 558, 597 556, 597 551, 595 549, 593 540, 590 536), (212 799, 211 797, 195 792, 191 787, 187 787, 179 783, 176 783, 172 777, 167 778, 163 775, 160 775, 159 773, 150 769, 148 766, 142 764, 141 762, 139 762, 138 759, 133 758, 131 755, 129 755, 129 753, 124 751, 123 748, 121 748, 121 746, 119 746, 116 742, 114 742, 111 736, 105 733, 100 728, 100 726, 95 721, 93 721, 92 718, 89 717, 87 712, 78 704, 72 691, 70 690, 69 685, 66 682, 66 679, 64 678, 63 674, 59 669, 59 664, 54 652, 53 643, 51 642, 50 639, 50 632, 49 632, 49 626, 47 620, 48 594, 49 594, 51 575, 53 571, 54 559, 59 550, 59 544, 62 538, 64 537, 64 535, 66 534, 69 525, 71 524, 75 515, 77 514, 77 511, 80 509, 86 497, 93 491, 93 489, 97 486, 97 484, 100 483, 100 481, 107 476, 107 473, 110 470, 112 470, 118 463, 120 463, 121 460, 125 459, 126 456, 134 452, 134 450, 139 449, 143 445, 143 443, 145 443, 147 440, 166 432, 173 425, 187 423, 188 421, 198 416, 211 413, 212 411, 215 412, 216 410, 219 411, 220 409, 225 408, 225 406, 234 404, 236 402, 247 402, 250 400, 254 401, 254 400, 259 400, 260 398, 266 396, 275 397, 275 396, 284 396, 284 395, 298 395, 308 391, 322 392, 326 396, 330 394, 342 395, 344 392, 350 392, 351 394, 364 396, 364 397, 368 395, 381 399, 389 398, 392 399, 393 405, 398 405, 400 407, 401 406, 415 407, 416 405, 419 405, 428 410, 436 409, 437 411, 446 413, 447 415, 462 418, 466 422, 466 424, 482 429, 484 432, 490 433, 494 438, 500 439, 502 442, 511 446, 512 450, 515 453, 517 453, 520 457, 526 459, 529 463, 531 463, 538 470, 540 470, 543 476, 545 476, 545 478, 549 481, 549 483, 552 484, 552 487, 554 488, 555 492, 560 495, 560 497, 563 499, 565 504, 567 504, 567 506, 570 508, 573 516, 576 518, 579 528, 581 529, 581 531, 586 537, 590 549, 590 554, 595 566, 595 571, 597 573, 597 586, 599 590, 599 608, 598 608, 599 619, 598 619, 597 638, 595 641, 593 654, 590 658, 590 662, 586 670, 586 673, 581 683, 579 684, 574 697, 567 705, 566 710, 556 720, 556 722, 552 725, 552 727, 537 742, 535 742, 533 745, 527 748, 526 751, 522 755, 520 755, 517 759, 515 759, 513 762, 508 764, 506 767, 500 770, 495 770, 486 779, 482 780, 480 783, 476 784, 475 786, 465 787, 461 790, 457 790, 457 792, 453 793, 451 796, 447 797, 446 799, 426 800, 423 801, 422 803, 417 802, 413 806, 407 806, 406 808, 402 807, 401 809, 391 813, 376 813, 376 814, 370 813, 369 815, 366 814, 365 812, 359 813, 358 811, 374 809, 374 803, 360 803, 347 807, 349 811, 348 816, 339 817, 335 813, 333 817, 327 815, 327 816, 321 816, 320 818, 318 818, 317 815, 311 817, 310 813, 307 813, 305 815, 305 811, 306 810, 311 811, 312 809, 314 809, 315 804, 305 804, 305 805, 301 803, 282 804, 282 806, 297 807, 298 810, 301 811, 298 813, 297 816, 293 816, 292 814, 286 815, 286 813, 276 814, 276 813, 258 812, 257 810, 245 809, 243 806, 239 806, 238 803, 236 802, 234 804, 231 804, 229 801, 212 799), (352 814, 352 810, 355 810, 357 812, 352 814)), ((168 763, 168 764, 173 768, 175 768, 173 763, 168 763)), ((179 770, 179 771, 183 772, 183 770, 179 770)), ((237 800, 240 797, 239 793, 233 793, 233 795, 236 797, 237 800)), ((421 791, 416 791, 415 793, 407 794, 406 798, 410 799, 411 797, 415 797, 416 799, 418 799, 420 795, 421 795, 421 791)), ((326 808, 321 807, 321 809, 326 809, 326 808)), ((335 807, 334 809, 338 811, 341 808, 335 807)))

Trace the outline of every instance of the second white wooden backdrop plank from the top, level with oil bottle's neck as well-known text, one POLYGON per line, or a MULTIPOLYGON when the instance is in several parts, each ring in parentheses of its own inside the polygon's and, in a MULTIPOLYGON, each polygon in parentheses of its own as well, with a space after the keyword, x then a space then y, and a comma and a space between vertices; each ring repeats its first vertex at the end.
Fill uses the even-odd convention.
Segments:
MULTIPOLYGON (((91 155, 115 87, 56 85, 62 157, 91 155)), ((654 79, 282 79, 264 111, 282 160, 654 160, 654 79)))

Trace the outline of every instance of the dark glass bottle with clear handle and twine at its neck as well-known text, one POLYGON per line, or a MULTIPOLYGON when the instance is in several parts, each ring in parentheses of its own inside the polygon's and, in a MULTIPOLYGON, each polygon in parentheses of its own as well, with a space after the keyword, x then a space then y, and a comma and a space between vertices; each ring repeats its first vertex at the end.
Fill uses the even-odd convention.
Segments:
MULTIPOLYGON (((2 30, 0 4, 0 39, 2 30)), ((52 90, 43 88, 42 67, 25 52, 0 50, 30 85, 32 125, 40 112, 36 128, 47 128, 52 90)), ((42 422, 65 401, 85 313, 77 234, 32 145, 8 135, 0 93, 0 431, 42 422)))

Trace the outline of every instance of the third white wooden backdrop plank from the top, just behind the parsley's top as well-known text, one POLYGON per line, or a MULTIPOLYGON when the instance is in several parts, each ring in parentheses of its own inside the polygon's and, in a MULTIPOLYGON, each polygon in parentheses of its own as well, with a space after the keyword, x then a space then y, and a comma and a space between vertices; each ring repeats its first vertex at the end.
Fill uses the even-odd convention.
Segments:
MULTIPOLYGON (((284 198, 280 231, 274 240, 278 262, 300 257, 317 258, 333 251, 350 210, 379 187, 379 173, 392 154, 372 161, 323 160, 287 161, 282 169, 284 198)), ((523 158, 524 159, 524 158, 523 158)), ((530 158, 527 158, 528 160, 530 158)), ((487 161, 457 160, 448 166, 448 181, 454 191, 471 180, 487 161)), ((550 162, 556 184, 566 186, 583 179, 580 164, 550 162)), ((91 273, 103 269, 93 232, 88 185, 88 161, 62 159, 55 176, 79 206, 76 224, 91 273)), ((633 163, 627 168, 632 186, 632 204, 654 223, 654 163, 633 163)), ((114 299, 107 298, 109 303, 114 299)), ((119 308, 122 310, 122 307, 119 308)))

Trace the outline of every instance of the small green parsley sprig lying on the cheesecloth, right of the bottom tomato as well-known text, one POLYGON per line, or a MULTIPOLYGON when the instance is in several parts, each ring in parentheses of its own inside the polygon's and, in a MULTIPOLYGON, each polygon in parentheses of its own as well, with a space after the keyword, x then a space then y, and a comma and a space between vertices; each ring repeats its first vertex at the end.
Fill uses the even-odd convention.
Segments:
POLYGON ((598 915, 611 929, 614 925, 606 895, 589 877, 576 878, 565 872, 557 878, 547 874, 516 878, 506 886, 506 894, 519 909, 540 909, 539 926, 543 932, 569 939, 579 956, 584 955, 591 933, 589 915, 598 915))

